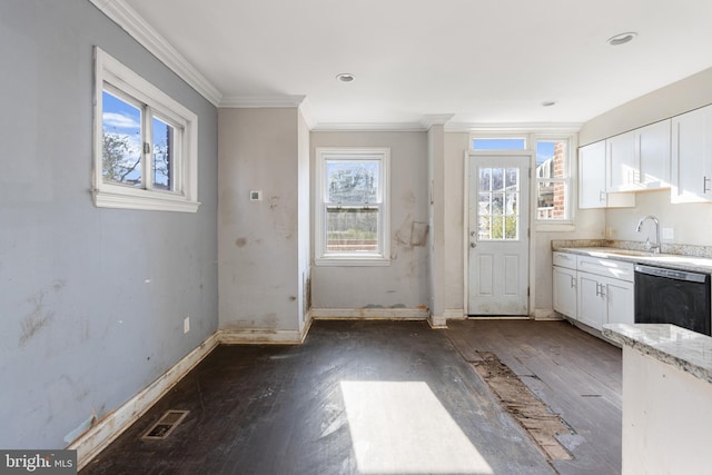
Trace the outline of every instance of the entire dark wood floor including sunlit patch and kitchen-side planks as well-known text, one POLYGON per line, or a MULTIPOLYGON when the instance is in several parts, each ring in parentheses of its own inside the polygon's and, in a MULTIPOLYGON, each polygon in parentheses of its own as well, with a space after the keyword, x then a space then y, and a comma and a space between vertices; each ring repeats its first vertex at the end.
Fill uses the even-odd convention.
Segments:
POLYGON ((620 473, 620 350, 566 323, 315 321, 220 346, 82 474, 620 473), (573 428, 550 462, 467 362, 493 352, 573 428), (190 413, 165 441, 140 436, 190 413))

